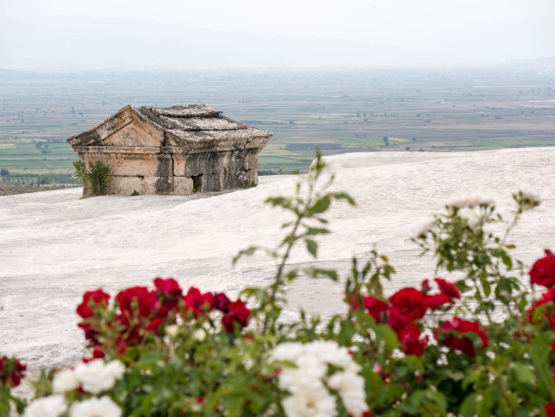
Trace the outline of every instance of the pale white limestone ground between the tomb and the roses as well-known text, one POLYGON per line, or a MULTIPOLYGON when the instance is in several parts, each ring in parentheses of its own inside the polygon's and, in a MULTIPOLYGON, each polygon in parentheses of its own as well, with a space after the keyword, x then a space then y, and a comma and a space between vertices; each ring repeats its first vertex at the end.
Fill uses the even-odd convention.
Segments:
MULTIPOLYGON (((320 239, 326 266, 345 269, 353 255, 375 244, 398 274, 388 286, 418 285, 433 277, 433 261, 418 257, 409 240, 445 202, 461 195, 494 199, 508 212, 511 192, 534 191, 543 200, 512 239, 527 263, 555 247, 555 149, 465 153, 356 153, 329 161, 336 189, 356 208, 338 205, 328 217, 334 233, 320 239)), ((180 196, 79 199, 81 189, 0 197, 0 353, 21 357, 32 369, 69 365, 83 355, 74 314, 83 292, 112 294, 174 276, 183 287, 226 291, 269 282, 268 258, 230 259, 251 244, 282 237, 282 211, 263 200, 293 192, 296 177, 262 177, 255 189, 206 198, 180 196)), ((294 264, 310 262, 304 248, 294 264)), ((341 285, 300 279, 289 285, 287 315, 303 305, 329 315, 343 311, 341 285)))

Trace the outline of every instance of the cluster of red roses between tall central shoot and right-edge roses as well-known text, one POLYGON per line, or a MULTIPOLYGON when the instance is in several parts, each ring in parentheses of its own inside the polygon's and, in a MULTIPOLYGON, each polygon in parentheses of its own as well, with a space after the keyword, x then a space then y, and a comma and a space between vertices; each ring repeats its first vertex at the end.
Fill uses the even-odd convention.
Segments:
MULTIPOLYGON (((389 299, 383 300, 374 296, 363 298, 366 311, 376 322, 390 325, 397 334, 401 350, 404 354, 422 356, 428 344, 427 335, 422 335, 417 320, 424 317, 428 310, 436 310, 442 305, 453 304, 461 293, 452 283, 443 278, 433 278, 440 292, 430 294, 431 286, 427 279, 422 283, 422 290, 407 287, 397 291, 389 299)), ((475 349, 472 340, 462 333, 473 332, 482 339, 482 346, 488 344, 485 329, 479 322, 470 322, 459 317, 445 322, 434 331, 435 338, 444 346, 459 350, 474 356, 475 349)))

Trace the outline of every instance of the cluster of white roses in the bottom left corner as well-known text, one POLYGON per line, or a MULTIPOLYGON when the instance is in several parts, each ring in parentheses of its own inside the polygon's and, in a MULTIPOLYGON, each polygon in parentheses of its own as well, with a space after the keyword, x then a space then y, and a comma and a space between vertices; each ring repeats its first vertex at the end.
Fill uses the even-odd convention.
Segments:
MULTIPOLYGON (((58 417, 68 408, 63 393, 73 391, 79 386, 87 393, 102 393, 110 390, 116 380, 122 378, 124 372, 125 367, 120 361, 104 364, 102 359, 78 364, 73 369, 63 369, 54 375, 54 395, 31 402, 24 410, 24 417, 58 417)), ((69 413, 71 417, 122 416, 120 407, 107 396, 75 402, 69 413)))

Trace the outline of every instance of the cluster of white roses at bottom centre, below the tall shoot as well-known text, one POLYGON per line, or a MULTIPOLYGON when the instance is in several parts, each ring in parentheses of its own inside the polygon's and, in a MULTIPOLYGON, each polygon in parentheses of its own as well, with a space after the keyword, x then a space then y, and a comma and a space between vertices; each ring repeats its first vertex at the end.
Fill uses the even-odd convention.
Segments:
POLYGON ((358 374, 361 368, 346 347, 340 347, 336 341, 278 344, 271 359, 284 363, 278 383, 279 388, 291 393, 282 402, 288 417, 335 416, 336 397, 329 389, 339 394, 346 411, 354 417, 368 410, 365 380, 358 374), (287 366, 287 362, 295 367, 287 366), (329 365, 339 370, 332 373, 335 368, 329 365))

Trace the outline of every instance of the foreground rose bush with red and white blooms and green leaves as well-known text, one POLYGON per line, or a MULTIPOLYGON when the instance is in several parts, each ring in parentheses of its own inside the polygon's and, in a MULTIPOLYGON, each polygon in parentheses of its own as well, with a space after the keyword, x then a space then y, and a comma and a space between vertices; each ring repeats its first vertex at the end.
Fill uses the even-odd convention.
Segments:
POLYGON ((413 240, 454 278, 423 276, 386 295, 394 267, 375 250, 347 276, 289 269, 299 244, 317 256, 334 200, 355 204, 325 175, 317 158, 294 197, 268 199, 292 213, 286 237, 234 259, 274 257, 269 286, 238 299, 161 277, 115 296, 89 291, 76 310, 90 346, 83 363, 44 371, 24 408, 10 393, 24 365, 4 358, 2 403, 26 416, 555 416, 555 257, 546 250, 527 278, 508 241, 539 201, 515 194, 501 236, 492 202, 447 205, 413 240), (345 313, 281 319, 286 284, 301 275, 340 282, 345 313))

